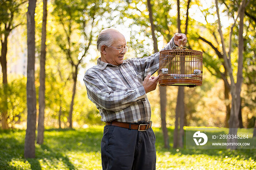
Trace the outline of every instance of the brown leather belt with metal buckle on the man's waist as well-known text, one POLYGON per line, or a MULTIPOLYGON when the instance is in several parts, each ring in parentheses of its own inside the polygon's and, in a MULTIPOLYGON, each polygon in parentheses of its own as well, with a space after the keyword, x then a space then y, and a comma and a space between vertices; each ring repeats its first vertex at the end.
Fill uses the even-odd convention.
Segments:
POLYGON ((124 127, 127 129, 133 129, 133 130, 138 130, 138 131, 146 131, 151 127, 152 121, 150 121, 147 124, 132 124, 132 123, 112 121, 112 122, 106 122, 106 125, 124 127))

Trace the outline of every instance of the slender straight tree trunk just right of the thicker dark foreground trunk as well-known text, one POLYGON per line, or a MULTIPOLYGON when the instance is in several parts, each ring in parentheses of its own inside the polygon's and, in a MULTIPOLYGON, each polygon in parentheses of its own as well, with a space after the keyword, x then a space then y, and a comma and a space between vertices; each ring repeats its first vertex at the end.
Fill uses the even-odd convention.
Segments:
POLYGON ((38 115, 38 128, 37 128, 37 143, 40 145, 44 143, 46 18, 47 18, 47 0, 44 0, 41 58, 40 58, 39 115, 38 115))

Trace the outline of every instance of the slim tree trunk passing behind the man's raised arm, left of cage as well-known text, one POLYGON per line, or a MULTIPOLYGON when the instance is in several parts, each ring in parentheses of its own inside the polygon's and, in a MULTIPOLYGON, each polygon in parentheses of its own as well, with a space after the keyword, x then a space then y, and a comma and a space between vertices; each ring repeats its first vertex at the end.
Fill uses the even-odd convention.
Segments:
MULTIPOLYGON (((149 12, 149 19, 151 24, 151 33, 154 43, 154 52, 158 52, 158 46, 157 46, 157 38, 155 37, 155 25, 153 23, 153 12, 150 4, 150 0, 147 0, 147 6, 148 6, 148 12, 149 12)), ((161 129, 163 132, 163 141, 164 141, 164 147, 169 148, 169 136, 168 131, 166 127, 166 87, 160 87, 160 112, 161 112, 161 129)))

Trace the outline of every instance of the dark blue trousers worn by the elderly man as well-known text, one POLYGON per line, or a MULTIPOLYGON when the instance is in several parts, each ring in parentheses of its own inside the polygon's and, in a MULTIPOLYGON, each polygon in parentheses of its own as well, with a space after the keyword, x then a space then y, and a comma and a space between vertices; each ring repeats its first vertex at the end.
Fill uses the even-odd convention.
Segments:
POLYGON ((103 170, 155 170, 155 134, 106 125, 101 141, 103 170))

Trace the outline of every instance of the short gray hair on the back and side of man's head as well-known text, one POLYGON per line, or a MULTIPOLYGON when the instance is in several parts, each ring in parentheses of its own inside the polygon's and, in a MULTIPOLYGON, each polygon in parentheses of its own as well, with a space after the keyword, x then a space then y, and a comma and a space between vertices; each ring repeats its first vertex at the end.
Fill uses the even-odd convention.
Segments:
POLYGON ((105 28, 99 33, 97 39, 97 49, 99 52, 101 51, 101 46, 111 46, 111 44, 113 43, 113 37, 111 35, 111 32, 113 31, 119 32, 113 28, 105 28))

